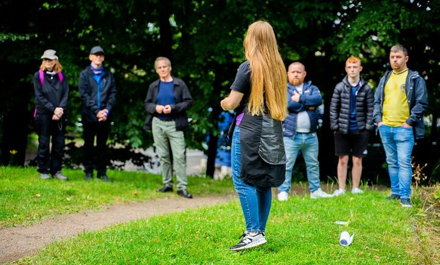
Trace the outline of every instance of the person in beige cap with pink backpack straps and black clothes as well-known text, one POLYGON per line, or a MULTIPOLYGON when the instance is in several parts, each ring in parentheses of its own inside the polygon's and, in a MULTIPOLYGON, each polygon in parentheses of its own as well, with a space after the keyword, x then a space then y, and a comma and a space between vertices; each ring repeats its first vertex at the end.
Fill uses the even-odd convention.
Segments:
POLYGON ((37 171, 40 178, 67 181, 61 173, 69 96, 67 78, 61 72, 57 52, 46 50, 40 68, 33 76, 35 90, 35 130, 38 135, 37 171), (50 148, 52 138, 52 149, 50 148))

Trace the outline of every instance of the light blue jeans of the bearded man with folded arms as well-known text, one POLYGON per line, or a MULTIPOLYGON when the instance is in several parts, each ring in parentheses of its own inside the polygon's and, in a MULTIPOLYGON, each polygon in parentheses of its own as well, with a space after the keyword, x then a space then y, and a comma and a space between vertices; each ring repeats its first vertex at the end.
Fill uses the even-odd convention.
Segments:
POLYGON ((319 181, 319 161, 318 151, 319 143, 318 136, 315 132, 309 134, 296 133, 293 138, 284 137, 284 149, 286 150, 287 164, 286 164, 286 180, 280 187, 278 192, 289 193, 292 185, 292 169, 295 164, 296 157, 299 150, 302 152, 302 157, 305 161, 307 171, 307 181, 309 182, 310 192, 314 192, 321 187, 319 181))

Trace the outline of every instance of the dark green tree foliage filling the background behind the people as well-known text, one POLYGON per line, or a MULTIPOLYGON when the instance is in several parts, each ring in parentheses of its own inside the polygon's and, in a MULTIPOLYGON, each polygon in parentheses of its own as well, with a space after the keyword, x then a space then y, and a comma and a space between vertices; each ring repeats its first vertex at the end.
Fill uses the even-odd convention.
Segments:
MULTIPOLYGON (((362 58, 363 77, 374 86, 389 68, 388 51, 395 43, 409 49, 409 67, 425 77, 429 91, 426 143, 438 141, 440 70, 436 36, 440 31, 438 1, 245 1, 245 0, 128 0, 43 1, 6 0, 0 3, 2 93, 0 119, 2 162, 10 150, 25 152, 33 130, 32 75, 46 49, 58 52, 69 80, 69 135, 80 136, 79 72, 89 65, 89 51, 105 49, 105 65, 114 72, 118 88, 112 143, 129 148, 152 145, 151 132, 142 129, 143 101, 157 78, 153 63, 166 56, 172 74, 184 79, 194 98, 192 121, 186 132, 190 148, 203 149, 209 136, 208 174, 212 174, 219 136, 219 101, 229 94, 244 60, 247 26, 267 20, 275 29, 286 66, 299 60, 307 77, 320 87, 326 114, 321 130, 322 171, 334 175, 328 105, 337 82, 345 75, 349 55, 362 58), (25 8, 23 8, 25 7, 25 8), (20 125, 14 125, 19 121, 20 125)), ((22 164, 19 159, 16 164, 22 164)), ((438 159, 438 158, 437 158, 438 159)), ((21 162, 22 161, 22 162, 21 162)))

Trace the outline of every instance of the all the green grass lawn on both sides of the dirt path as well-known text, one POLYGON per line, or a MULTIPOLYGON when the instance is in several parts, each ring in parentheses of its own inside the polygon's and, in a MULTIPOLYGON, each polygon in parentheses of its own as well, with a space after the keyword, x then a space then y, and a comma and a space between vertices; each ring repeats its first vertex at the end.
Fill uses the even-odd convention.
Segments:
MULTIPOLYGON (((41 181, 35 168, 0 167, 0 226, 163 196, 155 192, 159 175, 109 171, 115 182, 87 183, 80 170, 63 172, 69 182, 41 181)), ((233 189, 230 179, 189 181, 197 196, 233 189)), ((229 250, 245 228, 237 200, 82 233, 14 264, 438 264, 438 218, 432 218, 438 212, 424 206, 429 198, 438 207, 440 188, 430 188, 426 196, 414 192, 414 208, 384 200, 389 191, 363 188, 364 194, 330 199, 312 200, 308 194, 274 199, 268 244, 241 252, 229 250), (336 225, 337 220, 347 224, 336 225), (342 231, 355 233, 353 244, 339 245, 342 231)))

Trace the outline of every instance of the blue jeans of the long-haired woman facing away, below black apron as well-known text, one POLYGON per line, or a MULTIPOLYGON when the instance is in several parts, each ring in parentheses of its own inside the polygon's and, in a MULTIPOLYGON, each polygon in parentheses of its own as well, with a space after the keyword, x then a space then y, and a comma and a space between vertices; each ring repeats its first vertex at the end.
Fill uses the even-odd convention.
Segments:
POLYGON ((265 232, 272 204, 271 187, 258 187, 240 178, 240 127, 236 126, 231 147, 232 182, 240 199, 247 232, 265 232))

